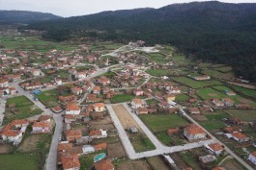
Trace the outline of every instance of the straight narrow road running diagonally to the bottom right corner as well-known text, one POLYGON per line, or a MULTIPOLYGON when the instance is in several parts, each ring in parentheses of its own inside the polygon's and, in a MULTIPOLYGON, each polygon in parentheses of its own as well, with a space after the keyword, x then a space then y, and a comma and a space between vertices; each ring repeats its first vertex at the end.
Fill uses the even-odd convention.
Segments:
POLYGON ((237 156, 231 149, 229 149, 223 142, 221 142, 220 140, 218 140, 213 134, 209 133, 204 127, 202 127, 199 123, 197 123, 192 117, 190 117, 187 114, 183 114, 185 116, 185 118, 187 118, 190 122, 192 122, 193 124, 201 127, 205 132, 207 132, 207 134, 209 136, 211 136, 214 140, 216 140, 218 143, 220 143, 221 145, 223 145, 225 147, 225 150, 234 158, 236 158, 244 167, 246 167, 248 170, 253 170, 254 168, 252 168, 247 162, 245 162, 242 158, 240 158, 239 156, 237 156))

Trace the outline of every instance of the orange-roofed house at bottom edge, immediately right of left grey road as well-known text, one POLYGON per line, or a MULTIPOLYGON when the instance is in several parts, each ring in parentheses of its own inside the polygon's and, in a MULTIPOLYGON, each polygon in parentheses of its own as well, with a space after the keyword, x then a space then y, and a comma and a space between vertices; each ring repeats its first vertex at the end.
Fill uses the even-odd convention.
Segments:
POLYGON ((80 161, 78 155, 69 155, 62 156, 62 166, 63 170, 79 170, 80 169, 80 161))

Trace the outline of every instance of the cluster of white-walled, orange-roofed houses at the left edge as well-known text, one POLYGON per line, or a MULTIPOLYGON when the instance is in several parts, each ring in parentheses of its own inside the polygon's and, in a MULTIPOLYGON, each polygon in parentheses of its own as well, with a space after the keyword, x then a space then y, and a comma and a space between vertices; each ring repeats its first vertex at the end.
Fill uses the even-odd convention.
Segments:
POLYGON ((51 116, 41 115, 37 121, 13 120, 0 131, 0 136, 3 141, 13 143, 16 146, 21 142, 28 126, 32 127, 31 134, 50 133, 52 127, 51 116))

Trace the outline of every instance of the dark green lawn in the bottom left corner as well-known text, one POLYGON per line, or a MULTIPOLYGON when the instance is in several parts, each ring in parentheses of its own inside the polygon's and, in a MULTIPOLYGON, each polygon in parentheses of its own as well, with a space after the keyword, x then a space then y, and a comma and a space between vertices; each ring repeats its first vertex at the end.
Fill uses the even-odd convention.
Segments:
POLYGON ((35 154, 2 154, 1 170, 38 170, 38 157, 35 154))

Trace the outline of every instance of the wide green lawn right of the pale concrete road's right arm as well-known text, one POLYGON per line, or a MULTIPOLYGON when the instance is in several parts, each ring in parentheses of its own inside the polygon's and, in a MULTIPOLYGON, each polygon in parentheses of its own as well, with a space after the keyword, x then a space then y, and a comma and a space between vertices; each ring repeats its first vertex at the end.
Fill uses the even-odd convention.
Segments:
POLYGON ((169 128, 187 124, 179 114, 141 114, 139 117, 153 133, 166 132, 169 128))

